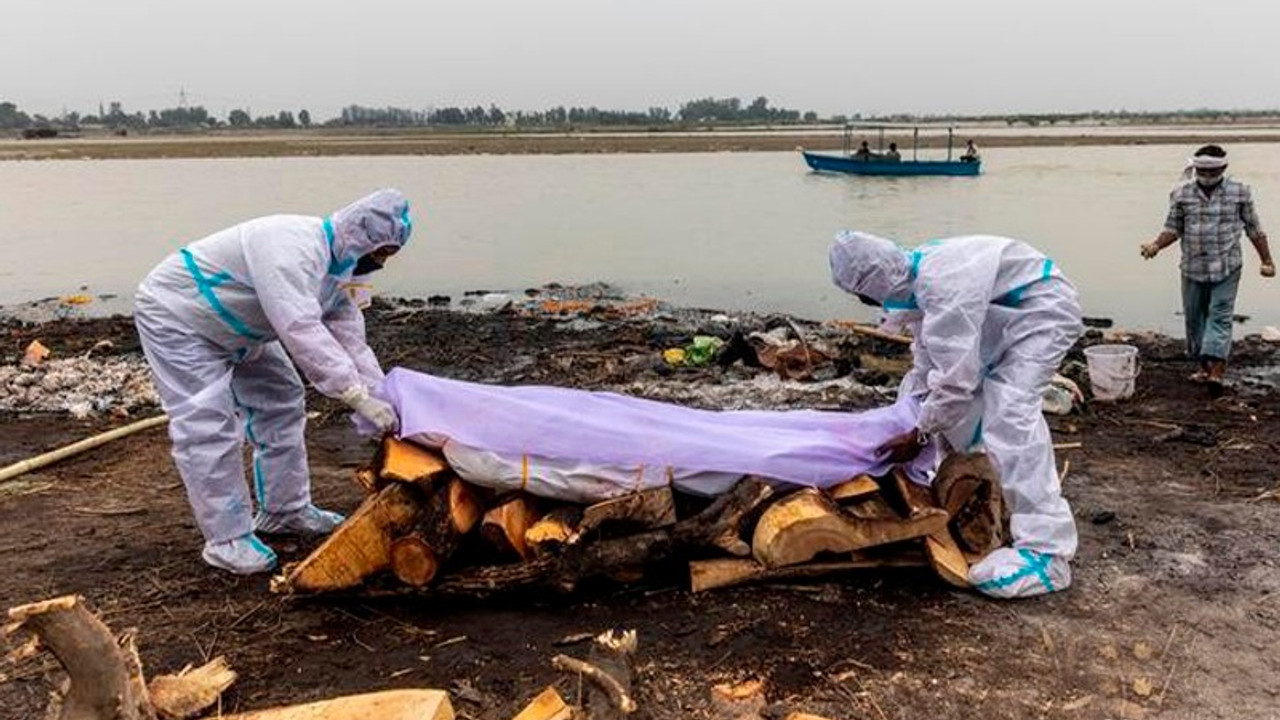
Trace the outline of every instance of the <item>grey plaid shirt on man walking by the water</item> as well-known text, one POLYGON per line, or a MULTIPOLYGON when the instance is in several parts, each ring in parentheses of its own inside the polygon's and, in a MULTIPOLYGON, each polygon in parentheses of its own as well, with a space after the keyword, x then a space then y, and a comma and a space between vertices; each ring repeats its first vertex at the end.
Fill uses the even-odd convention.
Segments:
POLYGON ((1253 193, 1234 178, 1222 178, 1210 195, 1194 179, 1175 187, 1165 229, 1181 238, 1183 274, 1198 282, 1220 282, 1240 269, 1242 231, 1251 238, 1262 234, 1253 193))

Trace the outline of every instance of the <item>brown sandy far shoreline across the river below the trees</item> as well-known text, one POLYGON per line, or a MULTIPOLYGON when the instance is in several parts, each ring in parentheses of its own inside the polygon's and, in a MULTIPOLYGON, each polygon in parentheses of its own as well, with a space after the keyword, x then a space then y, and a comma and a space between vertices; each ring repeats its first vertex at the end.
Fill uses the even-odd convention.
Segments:
MULTIPOLYGON (((945 128, 920 138, 931 154, 946 147, 945 128)), ((868 131, 873 145, 878 133, 868 131)), ((973 127, 957 129, 954 152, 973 137, 980 149, 1084 147, 1124 145, 1203 145, 1280 142, 1274 126, 1080 126, 1046 128, 973 127)), ((886 132, 884 142, 910 147, 909 131, 886 132)), ((786 152, 797 147, 840 151, 836 128, 746 128, 707 131, 434 131, 333 129, 209 131, 198 135, 102 133, 40 140, 0 140, 0 160, 146 160, 211 158, 422 156, 422 155, 570 155, 649 152, 786 152)))

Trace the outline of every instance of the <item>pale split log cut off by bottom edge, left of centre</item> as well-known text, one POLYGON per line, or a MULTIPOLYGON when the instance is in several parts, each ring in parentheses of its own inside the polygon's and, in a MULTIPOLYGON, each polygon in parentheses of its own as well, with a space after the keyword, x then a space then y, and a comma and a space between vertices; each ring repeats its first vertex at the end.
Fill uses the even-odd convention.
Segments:
POLYGON ((385 691, 223 715, 221 720, 453 720, 444 691, 385 691))

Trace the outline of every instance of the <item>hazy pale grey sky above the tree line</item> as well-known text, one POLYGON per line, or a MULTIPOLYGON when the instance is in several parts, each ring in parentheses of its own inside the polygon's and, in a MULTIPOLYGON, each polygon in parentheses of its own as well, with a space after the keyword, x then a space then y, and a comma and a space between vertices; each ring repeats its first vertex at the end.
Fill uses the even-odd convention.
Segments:
POLYGON ((833 113, 1280 108, 1275 0, 35 0, 0 17, 28 113, 347 104, 833 113))

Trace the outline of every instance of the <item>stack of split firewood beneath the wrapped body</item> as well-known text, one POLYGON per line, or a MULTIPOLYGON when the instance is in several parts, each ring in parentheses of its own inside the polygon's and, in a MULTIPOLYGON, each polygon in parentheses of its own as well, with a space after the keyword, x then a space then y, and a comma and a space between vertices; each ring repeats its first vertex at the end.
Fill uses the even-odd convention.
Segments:
POLYGON ((745 477, 713 500, 662 487, 582 506, 494 493, 438 454, 388 438, 356 478, 369 497, 274 589, 570 592, 591 578, 635 582, 671 560, 689 560, 695 592, 901 566, 931 566, 965 587, 969 566, 1006 537, 1000 484, 982 455, 950 456, 932 488, 901 473, 827 491, 745 477))

